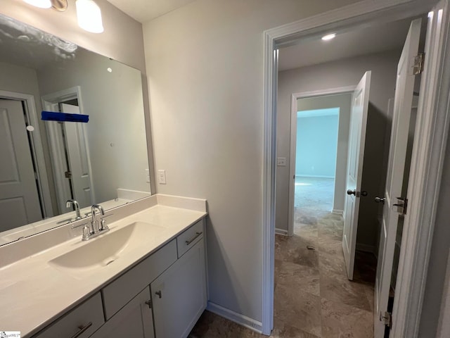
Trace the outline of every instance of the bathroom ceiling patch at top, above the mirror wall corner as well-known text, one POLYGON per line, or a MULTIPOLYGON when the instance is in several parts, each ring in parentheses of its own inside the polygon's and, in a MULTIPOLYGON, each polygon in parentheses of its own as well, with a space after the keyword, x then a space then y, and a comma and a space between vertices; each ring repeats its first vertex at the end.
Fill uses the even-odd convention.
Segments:
POLYGON ((146 23, 195 0, 107 0, 134 20, 146 23))

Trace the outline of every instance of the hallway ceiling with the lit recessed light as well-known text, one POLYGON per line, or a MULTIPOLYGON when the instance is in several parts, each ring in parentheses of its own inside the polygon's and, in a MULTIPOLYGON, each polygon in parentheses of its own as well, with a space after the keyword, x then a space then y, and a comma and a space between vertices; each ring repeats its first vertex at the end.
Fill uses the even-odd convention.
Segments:
MULTIPOLYGON (((426 22, 426 20, 423 21, 426 22)), ((342 58, 401 49, 410 23, 411 18, 371 25, 348 32, 335 32, 338 34, 329 41, 323 41, 320 37, 302 39, 295 46, 279 50, 278 70, 289 70, 342 58)))

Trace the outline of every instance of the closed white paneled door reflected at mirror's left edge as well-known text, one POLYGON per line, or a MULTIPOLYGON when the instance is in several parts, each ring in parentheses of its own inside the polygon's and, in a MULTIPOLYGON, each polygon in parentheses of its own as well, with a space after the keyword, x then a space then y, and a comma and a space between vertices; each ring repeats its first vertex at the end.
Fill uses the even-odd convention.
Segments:
POLYGON ((0 99, 0 231, 42 219, 21 101, 0 99))

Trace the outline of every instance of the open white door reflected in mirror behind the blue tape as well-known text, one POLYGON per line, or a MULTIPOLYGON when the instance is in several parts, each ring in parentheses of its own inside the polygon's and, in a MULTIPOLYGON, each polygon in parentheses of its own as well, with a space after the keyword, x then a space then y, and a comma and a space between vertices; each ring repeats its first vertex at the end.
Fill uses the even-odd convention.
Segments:
MULTIPOLYGON (((60 106, 63 113, 79 114, 78 106, 71 104, 61 104, 60 106)), ((91 206, 93 204, 91 173, 84 124, 65 122, 64 129, 73 198, 77 200, 80 208, 91 206)))

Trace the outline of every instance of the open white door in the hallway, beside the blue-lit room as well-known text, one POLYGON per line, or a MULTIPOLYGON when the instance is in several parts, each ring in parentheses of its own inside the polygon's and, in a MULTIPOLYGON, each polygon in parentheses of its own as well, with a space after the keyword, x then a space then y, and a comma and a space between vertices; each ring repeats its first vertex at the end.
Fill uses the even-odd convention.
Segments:
POLYGON ((352 111, 350 114, 349 153, 347 157, 347 199, 345 199, 344 233, 342 236, 342 249, 344 251, 345 266, 349 280, 353 280, 370 87, 371 71, 369 70, 361 78, 361 81, 359 81, 359 84, 353 92, 352 111))

